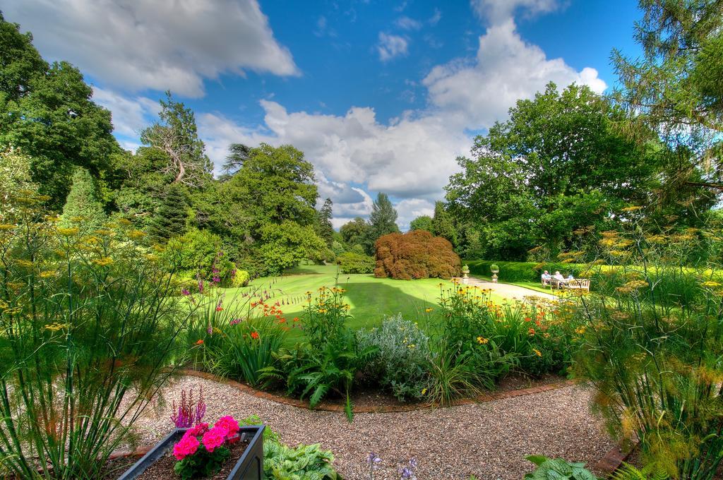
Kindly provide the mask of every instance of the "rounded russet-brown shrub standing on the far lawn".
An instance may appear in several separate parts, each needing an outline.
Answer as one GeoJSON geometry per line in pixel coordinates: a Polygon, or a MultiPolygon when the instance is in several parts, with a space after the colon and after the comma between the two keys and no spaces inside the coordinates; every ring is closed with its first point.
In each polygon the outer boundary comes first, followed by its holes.
{"type": "Polygon", "coordinates": [[[461,261],[452,244],[423,230],[390,233],[375,243],[375,276],[403,280],[452,278],[459,275],[461,261]]]}

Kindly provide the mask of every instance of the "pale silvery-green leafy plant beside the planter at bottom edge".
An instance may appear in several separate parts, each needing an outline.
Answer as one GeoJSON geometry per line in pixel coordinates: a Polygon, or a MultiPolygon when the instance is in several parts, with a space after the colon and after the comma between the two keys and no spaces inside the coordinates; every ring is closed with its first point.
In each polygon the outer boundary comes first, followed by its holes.
{"type": "Polygon", "coordinates": [[[334,456],[321,445],[290,448],[278,441],[264,442],[264,477],[274,480],[338,480],[334,456]]]}

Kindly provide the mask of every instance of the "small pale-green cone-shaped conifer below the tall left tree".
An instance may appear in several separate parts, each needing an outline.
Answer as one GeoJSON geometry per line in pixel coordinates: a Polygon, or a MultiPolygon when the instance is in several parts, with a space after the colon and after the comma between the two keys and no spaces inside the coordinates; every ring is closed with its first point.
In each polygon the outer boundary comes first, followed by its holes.
{"type": "Polygon", "coordinates": [[[82,223],[91,230],[103,226],[106,213],[103,203],[98,200],[98,189],[93,176],[85,168],[77,167],[73,173],[73,183],[63,207],[61,225],[71,226],[82,223]]]}

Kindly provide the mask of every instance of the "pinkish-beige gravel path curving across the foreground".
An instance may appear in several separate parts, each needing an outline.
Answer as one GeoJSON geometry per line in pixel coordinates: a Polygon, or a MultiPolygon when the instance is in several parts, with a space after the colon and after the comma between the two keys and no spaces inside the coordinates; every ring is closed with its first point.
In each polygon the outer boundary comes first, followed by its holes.
{"type": "Polygon", "coordinates": [[[375,479],[398,479],[398,466],[419,461],[417,478],[521,479],[531,463],[525,455],[544,454],[594,465],[613,443],[589,413],[590,394],[563,387],[487,403],[400,413],[357,413],[349,424],[343,413],[309,411],[257,398],[236,388],[197,377],[180,377],[166,389],[166,403],[138,422],[142,443],[168,433],[171,398],[181,388],[203,387],[206,420],[234,415],[260,416],[288,445],[320,442],[332,450],[345,479],[368,479],[370,452],[382,458],[375,479]]]}

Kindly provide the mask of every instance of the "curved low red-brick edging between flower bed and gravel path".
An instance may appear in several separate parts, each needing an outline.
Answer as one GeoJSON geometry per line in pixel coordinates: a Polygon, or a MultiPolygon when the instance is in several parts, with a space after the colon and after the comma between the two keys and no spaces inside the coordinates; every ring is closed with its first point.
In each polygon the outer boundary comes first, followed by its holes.
{"type": "MultiPolygon", "coordinates": [[[[297,408],[306,408],[307,410],[318,410],[318,411],[344,411],[344,406],[335,405],[333,403],[322,402],[319,403],[315,408],[311,408],[308,402],[304,400],[297,400],[296,398],[283,397],[281,395],[275,395],[273,393],[262,392],[256,390],[254,387],[249,387],[235,380],[228,380],[225,378],[217,377],[214,374],[208,372],[199,372],[198,370],[184,369],[179,372],[180,374],[189,375],[191,377],[204,378],[206,380],[213,380],[214,382],[223,383],[230,387],[235,387],[241,392],[253,395],[256,398],[263,398],[265,400],[271,400],[276,403],[283,405],[294,406],[297,408]]],[[[532,395],[534,393],[549,392],[557,390],[558,388],[568,387],[574,385],[573,380],[564,380],[562,382],[549,383],[547,385],[540,385],[539,387],[521,388],[519,390],[510,390],[508,392],[491,392],[479,395],[477,398],[464,398],[463,400],[457,400],[450,406],[462,406],[471,405],[474,403],[485,403],[494,400],[502,400],[505,398],[521,397],[523,395],[532,395]]],[[[393,413],[393,412],[405,412],[405,411],[416,411],[426,410],[429,408],[439,408],[433,406],[430,403],[416,403],[414,405],[380,405],[380,406],[369,406],[369,407],[354,407],[354,413],[393,413]]]]}

